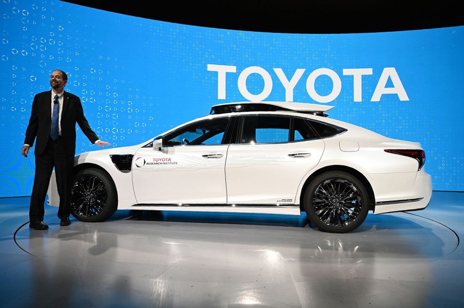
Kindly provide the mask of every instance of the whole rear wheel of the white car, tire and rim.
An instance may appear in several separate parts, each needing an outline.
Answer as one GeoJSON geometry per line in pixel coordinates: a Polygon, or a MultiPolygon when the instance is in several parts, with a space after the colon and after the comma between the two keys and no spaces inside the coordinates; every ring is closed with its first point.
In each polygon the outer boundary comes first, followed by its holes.
{"type": "Polygon", "coordinates": [[[347,233],[358,228],[369,212],[369,197],[363,183],[343,171],[328,171],[315,177],[305,191],[308,219],[323,232],[347,233]]]}

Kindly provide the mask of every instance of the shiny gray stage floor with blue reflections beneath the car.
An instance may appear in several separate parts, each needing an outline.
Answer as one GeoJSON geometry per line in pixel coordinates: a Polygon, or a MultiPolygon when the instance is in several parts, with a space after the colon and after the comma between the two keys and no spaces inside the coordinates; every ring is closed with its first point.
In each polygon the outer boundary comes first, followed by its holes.
{"type": "Polygon", "coordinates": [[[28,227],[0,199],[2,307],[463,307],[464,193],[327,234],[305,215],[117,211],[28,227]]]}

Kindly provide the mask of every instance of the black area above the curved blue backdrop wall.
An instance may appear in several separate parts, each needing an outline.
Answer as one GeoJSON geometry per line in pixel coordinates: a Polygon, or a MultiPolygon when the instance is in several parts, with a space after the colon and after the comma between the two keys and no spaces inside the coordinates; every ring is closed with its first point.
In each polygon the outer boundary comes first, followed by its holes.
{"type": "Polygon", "coordinates": [[[65,1],[191,26],[274,33],[368,33],[464,25],[459,1],[65,1]]]}

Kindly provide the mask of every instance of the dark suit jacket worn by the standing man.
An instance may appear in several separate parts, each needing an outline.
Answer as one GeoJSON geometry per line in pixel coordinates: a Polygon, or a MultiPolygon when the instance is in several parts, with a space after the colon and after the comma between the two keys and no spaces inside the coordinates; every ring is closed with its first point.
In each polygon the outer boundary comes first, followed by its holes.
{"type": "MultiPolygon", "coordinates": [[[[76,123],[92,143],[98,140],[97,135],[88,125],[84,116],[81,100],[76,95],[63,93],[63,110],[61,111],[61,138],[66,155],[76,153],[76,123]]],[[[51,90],[35,94],[32,102],[31,117],[26,129],[25,144],[32,146],[34,139],[35,155],[45,150],[51,129],[51,90]]]]}

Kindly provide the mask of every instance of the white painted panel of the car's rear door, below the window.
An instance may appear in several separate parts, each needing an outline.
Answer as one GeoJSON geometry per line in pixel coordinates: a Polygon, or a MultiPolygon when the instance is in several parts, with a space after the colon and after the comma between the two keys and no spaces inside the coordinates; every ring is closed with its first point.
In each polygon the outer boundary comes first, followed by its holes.
{"type": "Polygon", "coordinates": [[[320,139],[230,145],[226,163],[227,203],[299,204],[295,196],[301,179],[317,165],[323,151],[324,141],[320,139]]]}

